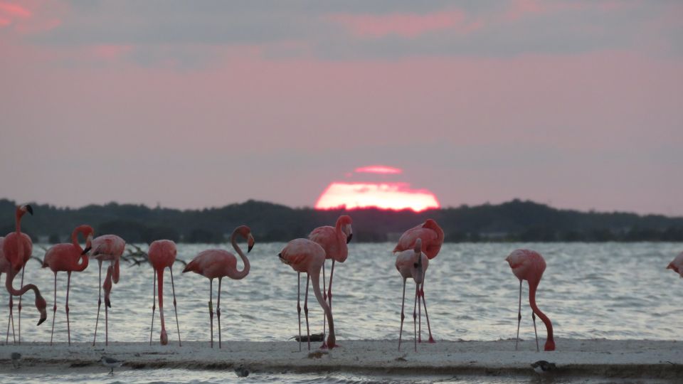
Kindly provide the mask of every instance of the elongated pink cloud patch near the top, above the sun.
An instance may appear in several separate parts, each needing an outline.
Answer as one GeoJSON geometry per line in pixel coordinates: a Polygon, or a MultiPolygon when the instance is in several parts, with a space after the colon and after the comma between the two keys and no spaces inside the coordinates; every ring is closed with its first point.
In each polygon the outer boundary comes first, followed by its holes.
{"type": "Polygon", "coordinates": [[[388,35],[414,38],[433,31],[455,29],[468,32],[479,28],[478,23],[467,23],[465,13],[459,10],[379,16],[337,14],[332,16],[332,20],[341,23],[356,36],[374,38],[388,35]]]}

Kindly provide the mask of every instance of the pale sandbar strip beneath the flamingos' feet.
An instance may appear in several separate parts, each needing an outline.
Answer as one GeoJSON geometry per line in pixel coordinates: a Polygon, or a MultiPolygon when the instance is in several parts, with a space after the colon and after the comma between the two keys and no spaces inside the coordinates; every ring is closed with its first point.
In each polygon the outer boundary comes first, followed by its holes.
{"type": "MultiPolygon", "coordinates": [[[[122,369],[190,368],[227,369],[243,363],[262,371],[357,371],[384,373],[445,373],[472,375],[534,374],[529,363],[537,360],[557,364],[556,375],[587,375],[605,378],[683,378],[683,342],[647,340],[557,339],[558,351],[536,352],[536,343],[523,341],[519,351],[514,340],[438,341],[418,345],[413,351],[408,340],[397,351],[398,341],[342,340],[332,351],[305,343],[302,351],[295,341],[224,341],[223,348],[211,349],[208,342],[189,341],[160,346],[155,343],[98,344],[45,343],[0,346],[0,373],[12,368],[12,352],[22,354],[24,370],[42,372],[70,368],[97,368],[102,354],[125,361],[122,369]]],[[[543,343],[541,343],[541,348],[543,343]]]]}

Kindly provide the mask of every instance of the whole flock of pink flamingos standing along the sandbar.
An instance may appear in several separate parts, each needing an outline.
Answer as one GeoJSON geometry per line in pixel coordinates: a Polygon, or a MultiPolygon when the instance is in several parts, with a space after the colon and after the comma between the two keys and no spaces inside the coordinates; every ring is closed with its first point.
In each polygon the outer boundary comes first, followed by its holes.
{"type": "MultiPolygon", "coordinates": [[[[13,297],[19,297],[18,302],[18,342],[21,343],[21,297],[29,290],[33,291],[36,297],[36,309],[41,314],[38,320],[38,325],[47,319],[46,300],[41,295],[40,290],[35,284],[23,284],[23,271],[26,263],[31,258],[33,244],[28,235],[21,233],[21,218],[24,214],[30,213],[33,215],[33,208],[29,205],[18,206],[15,213],[16,230],[9,233],[6,237],[0,237],[0,274],[6,274],[5,287],[9,292],[9,319],[7,324],[7,341],[9,341],[10,323],[14,335],[14,303],[13,297]],[[21,287],[14,289],[14,278],[21,271],[21,287]]],[[[80,225],[71,235],[71,243],[57,244],[51,247],[45,254],[43,259],[43,268],[49,267],[55,274],[55,296],[52,311],[52,331],[50,343],[53,342],[55,315],[57,311],[57,272],[67,273],[67,289],[66,289],[66,320],[68,342],[71,343],[71,331],[69,326],[69,289],[71,283],[71,272],[80,272],[88,267],[88,257],[95,257],[100,268],[100,283],[99,283],[99,299],[97,301],[97,320],[95,321],[95,335],[92,339],[92,345],[95,345],[97,340],[97,324],[100,320],[100,306],[102,305],[102,289],[105,291],[105,345],[109,342],[108,336],[108,311],[111,307],[110,293],[112,290],[112,283],[116,284],[119,281],[119,260],[125,250],[125,241],[117,235],[102,235],[93,238],[94,231],[89,225],[80,225]],[[85,248],[81,247],[78,242],[78,235],[85,238],[85,248]],[[105,282],[102,283],[102,262],[110,262],[105,275],[105,282]]],[[[306,289],[304,299],[304,314],[306,321],[306,332],[308,341],[308,348],[310,349],[310,331],[308,320],[308,288],[309,283],[312,282],[313,293],[317,302],[324,311],[323,334],[325,334],[325,324],[329,326],[329,334],[327,340],[323,336],[323,343],[321,348],[334,348],[337,346],[337,340],[334,336],[334,319],[332,317],[332,277],[334,274],[334,263],[344,262],[348,256],[347,243],[352,238],[351,218],[348,215],[342,215],[337,219],[334,227],[324,226],[315,228],[309,234],[308,238],[295,239],[287,243],[282,248],[278,257],[280,260],[292,267],[297,272],[297,280],[299,281],[297,294],[297,313],[299,318],[299,348],[301,350],[301,343],[304,338],[301,336],[301,283],[300,275],[305,273],[306,289]],[[325,260],[332,260],[332,268],[329,272],[329,285],[327,285],[327,292],[325,292],[325,260]],[[323,275],[323,290],[320,290],[320,272],[323,275]]],[[[231,279],[243,279],[249,274],[250,264],[248,258],[241,250],[237,243],[237,237],[240,236],[247,241],[247,252],[254,246],[254,238],[251,230],[246,225],[240,225],[235,228],[231,235],[231,243],[235,252],[238,253],[242,262],[242,270],[237,268],[237,258],[231,252],[220,249],[204,250],[199,252],[194,259],[189,262],[183,273],[195,272],[201,274],[203,277],[209,279],[209,321],[211,324],[211,348],[213,348],[213,279],[218,279],[218,300],[216,302],[216,321],[218,322],[218,348],[221,348],[221,280],[223,277],[231,279]]],[[[403,298],[401,299],[401,326],[398,336],[398,349],[401,349],[401,338],[403,335],[403,320],[405,319],[404,304],[406,301],[406,281],[409,278],[415,282],[415,295],[413,299],[413,341],[415,351],[417,351],[417,343],[420,343],[422,334],[422,309],[425,311],[425,318],[427,320],[427,328],[429,333],[429,343],[434,343],[431,326],[429,323],[429,315],[427,313],[427,302],[425,301],[425,272],[427,271],[429,261],[433,260],[439,253],[441,245],[443,244],[443,230],[435,222],[435,220],[427,219],[424,223],[406,230],[401,238],[398,239],[398,244],[393,249],[396,256],[396,270],[403,278],[403,298]]],[[[169,342],[166,334],[166,327],[164,324],[164,270],[166,267],[171,272],[171,290],[173,292],[173,305],[176,314],[176,328],[178,331],[178,343],[181,345],[180,326],[178,323],[178,311],[176,306],[175,287],[173,282],[172,265],[176,260],[176,245],[171,240],[156,240],[149,245],[149,263],[154,268],[154,282],[152,284],[152,325],[149,331],[149,343],[152,344],[152,332],[154,328],[154,313],[156,311],[156,302],[158,294],[159,302],[159,318],[161,321],[161,335],[160,341],[162,345],[169,342]]],[[[555,342],[553,338],[553,325],[538,306],[536,306],[536,288],[541,281],[543,272],[546,269],[546,262],[538,252],[532,250],[515,250],[505,259],[510,267],[512,273],[519,279],[519,312],[517,316],[517,342],[519,342],[519,324],[521,323],[521,286],[522,282],[526,280],[529,283],[529,306],[531,306],[531,317],[534,321],[534,333],[536,333],[536,350],[539,350],[538,333],[536,332],[536,316],[539,316],[544,322],[547,331],[545,351],[554,351],[555,342]]],[[[683,278],[683,252],[678,255],[672,262],[669,263],[667,269],[674,270],[683,278]]],[[[16,337],[14,338],[16,343],[16,337]]],[[[515,345],[517,348],[517,343],[515,345]]]]}

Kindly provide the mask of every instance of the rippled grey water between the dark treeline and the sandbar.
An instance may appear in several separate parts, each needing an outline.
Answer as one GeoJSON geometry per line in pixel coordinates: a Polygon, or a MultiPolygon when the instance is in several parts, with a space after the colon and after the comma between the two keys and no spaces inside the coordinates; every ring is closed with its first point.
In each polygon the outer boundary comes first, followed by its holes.
{"type": "MultiPolygon", "coordinates": [[[[257,239],[258,241],[258,239],[257,239]]],[[[230,247],[230,245],[221,245],[230,247]]],[[[245,279],[223,279],[223,341],[277,341],[297,334],[297,274],[277,258],[282,243],[257,243],[248,254],[245,279]]],[[[212,245],[179,245],[178,259],[189,261],[212,245]]],[[[445,244],[430,261],[425,280],[431,326],[436,339],[497,340],[517,329],[519,281],[504,258],[528,247],[544,255],[548,267],[536,296],[553,321],[557,336],[567,338],[650,338],[680,336],[683,279],[665,270],[682,243],[445,244]]],[[[333,309],[337,339],[398,338],[402,280],[394,267],[392,244],[349,244],[349,258],[334,269],[333,309]]],[[[143,248],[145,249],[145,248],[143,248]]],[[[42,259],[35,245],[33,255],[42,259]]],[[[105,264],[106,266],[106,264],[105,264]]],[[[208,279],[182,274],[176,262],[174,282],[181,337],[208,340],[208,279]]],[[[329,262],[328,262],[329,274],[329,262]]],[[[149,341],[152,316],[152,267],[122,262],[121,279],[112,289],[110,341],[149,341]]],[[[92,341],[97,314],[97,262],[75,272],[69,297],[72,341],[92,341]]],[[[36,327],[33,294],[23,301],[22,338],[48,341],[52,321],[53,274],[28,262],[26,282],[37,284],[48,300],[48,320],[36,327]]],[[[218,284],[213,284],[214,291],[218,284]]],[[[18,282],[15,282],[18,287],[18,282]]],[[[164,315],[169,340],[177,340],[171,279],[164,279],[164,315]]],[[[302,288],[305,279],[302,278],[302,288]]],[[[408,283],[406,307],[412,311],[414,285],[408,283]]],[[[58,274],[55,341],[66,341],[66,274],[58,274]]],[[[4,290],[3,290],[4,292],[4,290]]],[[[533,338],[531,310],[522,299],[521,337],[533,338]]],[[[6,294],[0,300],[6,302],[6,294]]],[[[214,301],[216,293],[213,294],[214,301]]],[[[303,297],[302,297],[303,300],[303,297]]],[[[312,332],[322,331],[322,309],[309,295],[312,332]]],[[[214,302],[215,305],[215,302],[214,302]]],[[[0,306],[5,321],[7,307],[0,306]]],[[[102,318],[104,306],[102,306],[102,318]]],[[[16,317],[16,316],[15,316],[16,317]]],[[[102,320],[100,319],[100,321],[102,320]]],[[[407,318],[408,319],[408,318],[407,318]]],[[[159,316],[154,341],[159,339],[159,316]]],[[[100,325],[103,324],[100,322],[100,325]]],[[[214,326],[216,326],[214,324],[214,326]]],[[[103,332],[104,328],[100,328],[103,332]]],[[[541,326],[541,332],[544,333],[541,326]]],[[[103,333],[98,332],[98,339],[103,333]]],[[[10,336],[11,337],[11,336],[10,336]]],[[[103,339],[102,339],[103,340],[103,339]]]]}

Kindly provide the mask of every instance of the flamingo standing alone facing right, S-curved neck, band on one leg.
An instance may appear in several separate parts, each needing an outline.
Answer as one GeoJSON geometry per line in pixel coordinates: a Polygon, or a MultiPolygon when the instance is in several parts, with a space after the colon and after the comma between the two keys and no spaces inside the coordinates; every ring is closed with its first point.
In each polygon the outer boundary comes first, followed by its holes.
{"type": "Polygon", "coordinates": [[[251,235],[251,230],[246,225],[240,225],[233,230],[233,235],[230,240],[233,248],[242,258],[244,267],[241,271],[237,270],[237,258],[231,252],[226,250],[205,250],[199,252],[188,265],[186,265],[183,273],[195,272],[208,278],[208,316],[211,322],[211,348],[213,348],[213,279],[218,277],[218,302],[216,302],[216,316],[218,317],[218,348],[221,348],[221,280],[223,277],[230,277],[231,279],[239,280],[245,278],[249,274],[249,260],[244,255],[239,245],[237,245],[237,235],[242,236],[247,240],[247,253],[254,247],[254,237],[251,235]]]}

